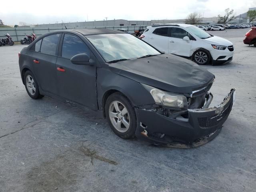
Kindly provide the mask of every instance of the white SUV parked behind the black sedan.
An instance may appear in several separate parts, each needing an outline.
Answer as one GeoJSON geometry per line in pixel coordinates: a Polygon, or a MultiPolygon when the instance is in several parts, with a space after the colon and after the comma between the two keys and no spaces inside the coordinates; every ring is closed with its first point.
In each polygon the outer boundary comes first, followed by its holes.
{"type": "Polygon", "coordinates": [[[232,42],[188,24],[148,26],[140,38],[166,54],[194,60],[197,64],[223,64],[234,54],[232,42]]]}

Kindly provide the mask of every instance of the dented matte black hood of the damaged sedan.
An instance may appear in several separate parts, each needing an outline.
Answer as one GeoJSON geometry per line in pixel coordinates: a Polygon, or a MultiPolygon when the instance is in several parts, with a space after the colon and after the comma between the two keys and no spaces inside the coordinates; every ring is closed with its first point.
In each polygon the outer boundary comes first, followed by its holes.
{"type": "Polygon", "coordinates": [[[175,93],[191,93],[214,80],[214,75],[203,67],[175,55],[120,61],[109,67],[112,72],[136,82],[175,93]]]}

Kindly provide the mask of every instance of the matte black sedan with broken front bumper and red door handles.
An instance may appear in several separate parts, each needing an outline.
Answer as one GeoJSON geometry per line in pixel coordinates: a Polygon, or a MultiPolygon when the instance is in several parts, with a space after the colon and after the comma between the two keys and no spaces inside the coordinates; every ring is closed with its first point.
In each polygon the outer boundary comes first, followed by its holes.
{"type": "Polygon", "coordinates": [[[220,105],[209,108],[212,73],[108,29],[44,34],[22,49],[19,66],[31,98],[47,95],[99,110],[125,139],[135,135],[168,145],[204,144],[220,132],[234,100],[231,89],[220,105]]]}

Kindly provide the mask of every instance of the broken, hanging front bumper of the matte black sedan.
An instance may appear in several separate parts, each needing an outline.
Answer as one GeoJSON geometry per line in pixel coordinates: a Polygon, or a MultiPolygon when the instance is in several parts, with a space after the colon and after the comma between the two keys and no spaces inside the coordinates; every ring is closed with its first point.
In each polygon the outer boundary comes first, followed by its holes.
{"type": "MultiPolygon", "coordinates": [[[[201,109],[187,109],[183,116],[165,116],[154,108],[136,108],[137,137],[144,137],[160,146],[191,148],[205,144],[215,138],[228,118],[233,106],[235,89],[231,89],[221,104],[208,108],[212,94],[201,109]]],[[[184,112],[184,111],[183,111],[184,112]]]]}

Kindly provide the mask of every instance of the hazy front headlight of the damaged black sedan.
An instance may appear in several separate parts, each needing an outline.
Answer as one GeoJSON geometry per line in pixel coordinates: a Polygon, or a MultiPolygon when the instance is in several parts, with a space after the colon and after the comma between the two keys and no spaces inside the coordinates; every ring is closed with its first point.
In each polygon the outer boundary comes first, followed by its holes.
{"type": "Polygon", "coordinates": [[[150,92],[156,104],[174,108],[188,108],[188,101],[185,96],[162,91],[146,84],[142,85],[150,92]]]}

